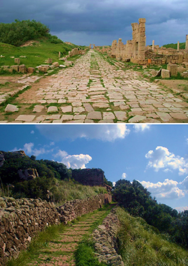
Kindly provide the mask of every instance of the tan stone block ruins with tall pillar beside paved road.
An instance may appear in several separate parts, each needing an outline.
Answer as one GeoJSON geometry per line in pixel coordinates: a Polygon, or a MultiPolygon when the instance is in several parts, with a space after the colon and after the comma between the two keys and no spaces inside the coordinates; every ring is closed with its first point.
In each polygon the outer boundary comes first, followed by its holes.
{"type": "Polygon", "coordinates": [[[139,19],[138,23],[132,23],[132,40],[128,40],[123,44],[122,39],[118,42],[112,42],[111,49],[98,49],[102,53],[108,53],[111,58],[116,58],[120,61],[131,61],[139,63],[140,65],[147,65],[148,58],[152,59],[151,63],[161,65],[166,63],[182,64],[188,62],[188,35],[186,35],[185,49],[179,49],[179,42],[177,49],[159,47],[153,41],[152,46],[146,46],[145,36],[145,22],[146,19],[139,19]]]}

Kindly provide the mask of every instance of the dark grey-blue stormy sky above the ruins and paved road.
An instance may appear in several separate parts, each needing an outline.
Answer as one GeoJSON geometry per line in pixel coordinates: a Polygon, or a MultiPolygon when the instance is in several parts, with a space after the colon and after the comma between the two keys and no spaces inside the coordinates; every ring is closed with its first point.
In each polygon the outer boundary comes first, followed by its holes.
{"type": "Polygon", "coordinates": [[[146,18],[147,45],[185,42],[187,0],[1,0],[0,22],[35,19],[51,34],[78,45],[132,39],[131,23],[146,18]]]}

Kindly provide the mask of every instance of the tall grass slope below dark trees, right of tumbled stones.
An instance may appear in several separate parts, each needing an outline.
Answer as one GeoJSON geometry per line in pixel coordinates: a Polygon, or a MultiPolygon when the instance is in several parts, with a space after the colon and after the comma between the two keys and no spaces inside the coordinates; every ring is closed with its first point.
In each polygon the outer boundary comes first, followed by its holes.
{"type": "Polygon", "coordinates": [[[121,208],[117,209],[117,215],[121,223],[119,252],[125,266],[188,265],[188,251],[166,240],[155,227],[121,208]]]}

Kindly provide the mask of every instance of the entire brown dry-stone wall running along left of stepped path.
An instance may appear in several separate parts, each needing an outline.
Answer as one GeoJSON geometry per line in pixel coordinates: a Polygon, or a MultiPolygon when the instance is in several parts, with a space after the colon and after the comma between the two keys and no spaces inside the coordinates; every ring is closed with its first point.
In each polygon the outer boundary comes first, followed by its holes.
{"type": "Polygon", "coordinates": [[[111,200],[110,194],[99,194],[88,199],[72,200],[55,208],[46,200],[0,197],[0,266],[17,257],[46,226],[58,225],[60,220],[67,223],[111,200]]]}

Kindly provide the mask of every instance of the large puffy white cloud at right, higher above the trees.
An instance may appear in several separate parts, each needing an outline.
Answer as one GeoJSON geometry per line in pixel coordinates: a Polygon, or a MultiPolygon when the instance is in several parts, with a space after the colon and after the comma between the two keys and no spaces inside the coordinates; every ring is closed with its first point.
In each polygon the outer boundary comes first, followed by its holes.
{"type": "Polygon", "coordinates": [[[150,150],[145,157],[149,159],[147,168],[154,168],[155,171],[165,168],[165,171],[178,169],[179,175],[188,173],[188,161],[170,153],[165,147],[157,146],[154,151],[150,150]]]}

